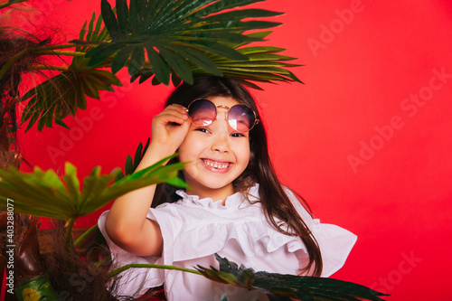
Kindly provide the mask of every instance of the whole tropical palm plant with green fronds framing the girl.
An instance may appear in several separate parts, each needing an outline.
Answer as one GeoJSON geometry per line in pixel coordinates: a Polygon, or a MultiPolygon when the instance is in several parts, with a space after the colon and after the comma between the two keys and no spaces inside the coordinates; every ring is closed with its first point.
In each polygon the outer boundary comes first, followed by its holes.
{"type": "MultiPolygon", "coordinates": [[[[59,125],[67,127],[63,119],[75,116],[79,109],[87,108],[87,97],[99,99],[99,91],[114,90],[121,82],[116,73],[127,68],[131,80],[142,83],[151,80],[153,85],[182,80],[193,82],[196,74],[230,75],[245,85],[260,89],[255,83],[273,81],[297,81],[288,67],[297,66],[287,61],[295,58],[280,54],[278,47],[250,46],[261,42],[268,35],[268,28],[279,23],[256,20],[276,16],[280,13],[263,9],[241,8],[262,0],[117,0],[112,8],[107,0],[101,0],[101,15],[92,14],[80,30],[79,39],[63,44],[51,44],[52,39],[39,39],[31,33],[11,28],[0,28],[0,98],[2,99],[0,119],[0,155],[14,162],[7,171],[0,170],[0,209],[7,208],[6,200],[14,200],[14,212],[23,215],[50,217],[66,221],[65,252],[73,254],[71,230],[80,216],[99,210],[118,196],[152,183],[172,183],[184,186],[175,176],[184,164],[164,165],[165,159],[137,173],[137,168],[146,146],[140,144],[134,160],[127,157],[125,174],[114,170],[111,174],[100,174],[95,167],[83,184],[77,177],[77,169],[70,163],[65,165],[61,177],[52,170],[42,171],[35,167],[32,173],[18,171],[21,162],[14,136],[19,128],[16,120],[16,106],[25,102],[21,122],[28,125],[25,131],[36,126],[59,125]],[[245,21],[247,20],[247,21],[245,21]],[[247,33],[253,31],[253,33],[247,33]],[[55,66],[46,63],[48,56],[70,57],[71,63],[55,66]],[[23,95],[19,86],[24,73],[33,72],[42,80],[23,95]],[[15,146],[15,150],[10,148],[15,146]],[[116,178],[116,182],[112,183],[116,178]]],[[[0,4],[0,9],[9,9],[26,0],[9,0],[0,4]]],[[[167,158],[166,158],[167,159],[167,158]]],[[[2,215],[5,217],[5,215],[2,215]]],[[[27,244],[20,253],[30,254],[36,264],[34,277],[45,268],[42,266],[39,249],[33,229],[33,220],[25,234],[27,244]],[[27,245],[33,241],[33,249],[27,252],[27,245]]],[[[5,229],[2,221],[1,229],[5,229]]],[[[95,230],[92,227],[89,232],[95,230]]],[[[2,258],[0,258],[2,259],[2,258]]],[[[5,259],[5,254],[3,259],[5,259]]],[[[65,264],[65,257],[62,257],[65,264]]],[[[227,259],[217,258],[220,270],[198,267],[185,269],[204,275],[214,281],[232,285],[261,289],[271,300],[355,300],[356,297],[380,300],[378,293],[361,286],[332,282],[326,279],[285,277],[278,274],[259,274],[237,265],[227,259]],[[273,285],[278,280],[278,287],[273,285]],[[328,288],[330,291],[328,291],[328,288]],[[321,292],[319,292],[321,291],[321,292]]],[[[26,263],[28,259],[17,259],[26,263]]],[[[79,259],[78,259],[79,260],[79,259]]],[[[2,261],[2,260],[0,260],[2,261]]],[[[5,262],[5,260],[3,260],[5,262]]],[[[77,268],[73,262],[67,266],[77,268]]],[[[112,271],[114,278],[127,266],[112,271]]],[[[146,268],[173,268],[146,265],[146,268]]],[[[54,270],[56,273],[56,271],[54,270]]],[[[49,283],[49,280],[38,279],[49,283]]],[[[335,280],[337,281],[337,280],[335,280]]],[[[41,283],[41,282],[40,282],[41,283]]],[[[103,293],[102,293],[103,294],[103,293]]],[[[223,296],[226,300],[227,296],[223,296]]]]}

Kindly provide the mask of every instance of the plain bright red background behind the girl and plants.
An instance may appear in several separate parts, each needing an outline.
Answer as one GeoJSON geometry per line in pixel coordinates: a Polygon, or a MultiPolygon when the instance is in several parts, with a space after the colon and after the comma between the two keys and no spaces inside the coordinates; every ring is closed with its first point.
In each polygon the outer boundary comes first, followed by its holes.
{"type": "MultiPolygon", "coordinates": [[[[99,12],[99,1],[32,3],[43,8],[35,23],[60,27],[68,40],[99,12]]],[[[284,24],[267,44],[287,48],[305,65],[293,70],[305,85],[254,91],[278,174],[321,221],[359,237],[334,277],[391,294],[388,300],[449,299],[452,5],[268,0],[255,6],[287,13],[275,18],[284,24]],[[436,71],[451,75],[439,78],[436,71]],[[419,104],[410,100],[416,96],[419,104]]],[[[28,162],[61,169],[70,161],[80,178],[95,165],[104,173],[122,167],[150,136],[151,119],[171,89],[127,84],[122,71],[118,77],[123,88],[90,99],[80,111],[92,126],[66,118],[71,131],[21,134],[28,162]],[[51,155],[52,149],[61,152],[51,155]]],[[[77,226],[93,225],[99,213],[77,226]]]]}

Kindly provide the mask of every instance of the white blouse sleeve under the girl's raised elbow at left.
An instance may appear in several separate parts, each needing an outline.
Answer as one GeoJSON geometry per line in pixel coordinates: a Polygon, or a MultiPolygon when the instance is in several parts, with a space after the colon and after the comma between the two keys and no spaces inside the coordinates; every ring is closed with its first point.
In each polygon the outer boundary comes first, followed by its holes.
{"type": "MultiPolygon", "coordinates": [[[[105,220],[107,218],[108,211],[103,212],[99,217],[99,230],[107,240],[108,247],[111,253],[111,259],[113,260],[113,266],[111,269],[121,268],[127,264],[139,263],[139,264],[163,264],[163,259],[160,257],[144,257],[137,256],[127,252],[125,249],[121,249],[108,237],[108,233],[105,230],[105,220]]],[[[133,233],[130,233],[133,235],[133,233]]],[[[150,287],[159,287],[164,283],[165,272],[160,268],[129,268],[126,271],[119,274],[116,279],[112,294],[114,296],[141,296],[146,293],[150,287]]]]}

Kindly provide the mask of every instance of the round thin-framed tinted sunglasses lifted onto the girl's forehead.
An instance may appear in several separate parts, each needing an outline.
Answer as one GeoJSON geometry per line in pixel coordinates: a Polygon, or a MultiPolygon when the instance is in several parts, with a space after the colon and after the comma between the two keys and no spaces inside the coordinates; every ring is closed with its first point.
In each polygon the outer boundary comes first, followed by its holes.
{"type": "Polygon", "coordinates": [[[239,132],[248,132],[259,123],[256,113],[246,105],[235,105],[231,108],[215,106],[209,99],[194,99],[185,109],[193,124],[209,126],[217,118],[217,108],[228,110],[227,120],[230,126],[239,132]]]}

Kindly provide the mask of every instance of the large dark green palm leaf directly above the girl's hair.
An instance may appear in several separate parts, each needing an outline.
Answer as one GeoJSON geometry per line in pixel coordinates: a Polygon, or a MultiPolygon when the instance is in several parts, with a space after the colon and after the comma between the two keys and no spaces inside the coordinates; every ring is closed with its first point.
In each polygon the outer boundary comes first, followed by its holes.
{"type": "Polygon", "coordinates": [[[242,34],[247,30],[274,27],[278,23],[243,19],[278,15],[262,9],[226,9],[250,5],[261,0],[117,0],[115,14],[107,0],[101,1],[102,16],[111,42],[87,52],[89,66],[114,57],[112,71],[127,65],[130,75],[145,66],[148,79],[169,84],[170,75],[193,82],[193,69],[221,75],[210,59],[213,54],[230,60],[246,61],[248,57],[229,44],[261,41],[262,38],[242,34]],[[127,60],[128,59],[128,60],[127,60]]]}

